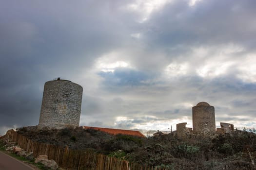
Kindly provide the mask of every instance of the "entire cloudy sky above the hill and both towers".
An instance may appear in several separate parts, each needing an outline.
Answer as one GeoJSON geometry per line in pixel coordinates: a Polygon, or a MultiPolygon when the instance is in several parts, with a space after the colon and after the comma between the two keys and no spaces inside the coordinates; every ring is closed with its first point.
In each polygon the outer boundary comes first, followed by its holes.
{"type": "Polygon", "coordinates": [[[0,0],[0,135],[37,125],[43,85],[83,86],[80,125],[256,127],[256,0],[0,0]]]}

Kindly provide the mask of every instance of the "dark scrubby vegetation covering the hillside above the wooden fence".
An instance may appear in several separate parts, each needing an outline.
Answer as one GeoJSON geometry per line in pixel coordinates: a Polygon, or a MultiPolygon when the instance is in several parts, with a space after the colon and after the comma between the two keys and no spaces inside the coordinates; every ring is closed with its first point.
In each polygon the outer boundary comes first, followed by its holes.
{"type": "Polygon", "coordinates": [[[93,150],[110,156],[165,168],[165,170],[255,170],[256,134],[238,131],[211,137],[167,136],[140,138],[112,136],[93,129],[61,130],[36,127],[20,128],[18,133],[28,138],[59,147],[93,150]]]}

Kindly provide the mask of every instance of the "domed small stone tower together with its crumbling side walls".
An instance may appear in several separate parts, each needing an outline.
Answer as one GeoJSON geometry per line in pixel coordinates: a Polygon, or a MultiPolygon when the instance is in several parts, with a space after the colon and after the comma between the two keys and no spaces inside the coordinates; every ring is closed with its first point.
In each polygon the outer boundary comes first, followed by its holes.
{"type": "Polygon", "coordinates": [[[187,135],[211,136],[214,134],[234,133],[234,125],[231,123],[220,123],[216,130],[215,109],[207,102],[199,102],[192,107],[193,128],[186,127],[186,122],[176,125],[176,134],[179,137],[187,135]]]}

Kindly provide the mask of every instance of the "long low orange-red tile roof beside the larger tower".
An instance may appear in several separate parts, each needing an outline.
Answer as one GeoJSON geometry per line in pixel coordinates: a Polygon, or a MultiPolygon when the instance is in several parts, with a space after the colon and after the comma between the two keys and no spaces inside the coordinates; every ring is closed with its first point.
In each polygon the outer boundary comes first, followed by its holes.
{"type": "Polygon", "coordinates": [[[123,129],[111,129],[111,128],[100,128],[100,127],[91,127],[91,126],[83,126],[84,129],[95,129],[101,132],[106,132],[111,135],[131,135],[131,136],[139,136],[139,137],[145,137],[141,132],[139,131],[133,131],[133,130],[123,130],[123,129]]]}

